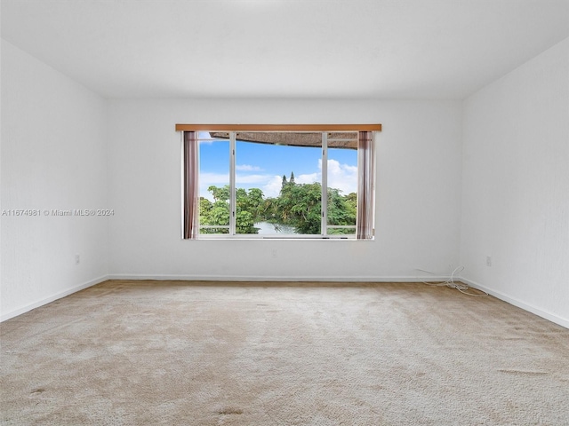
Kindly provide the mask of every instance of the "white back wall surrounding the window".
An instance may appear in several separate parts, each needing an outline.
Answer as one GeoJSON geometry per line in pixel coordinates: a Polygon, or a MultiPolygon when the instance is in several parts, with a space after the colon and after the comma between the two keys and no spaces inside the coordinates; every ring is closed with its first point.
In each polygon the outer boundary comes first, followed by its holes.
{"type": "Polygon", "coordinates": [[[115,277],[415,280],[459,257],[461,102],[109,101],[115,277]],[[178,122],[381,122],[375,241],[181,241],[178,122]],[[278,256],[271,256],[272,249],[278,256]]]}

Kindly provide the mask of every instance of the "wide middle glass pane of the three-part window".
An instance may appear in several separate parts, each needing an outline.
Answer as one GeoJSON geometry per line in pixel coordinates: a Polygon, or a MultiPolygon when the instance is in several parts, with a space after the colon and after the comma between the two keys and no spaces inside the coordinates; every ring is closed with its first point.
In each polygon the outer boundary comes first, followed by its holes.
{"type": "Polygon", "coordinates": [[[236,134],[236,233],[320,234],[322,134],[236,134]]]}

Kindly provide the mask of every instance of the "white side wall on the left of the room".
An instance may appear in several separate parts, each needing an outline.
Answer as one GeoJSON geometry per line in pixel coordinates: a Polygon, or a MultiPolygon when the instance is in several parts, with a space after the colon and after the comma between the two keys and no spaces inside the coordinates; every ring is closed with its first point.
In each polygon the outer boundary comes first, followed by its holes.
{"type": "Polygon", "coordinates": [[[106,139],[103,99],[2,41],[2,209],[41,212],[2,217],[2,319],[106,276],[108,219],[43,213],[107,207],[106,139]]]}

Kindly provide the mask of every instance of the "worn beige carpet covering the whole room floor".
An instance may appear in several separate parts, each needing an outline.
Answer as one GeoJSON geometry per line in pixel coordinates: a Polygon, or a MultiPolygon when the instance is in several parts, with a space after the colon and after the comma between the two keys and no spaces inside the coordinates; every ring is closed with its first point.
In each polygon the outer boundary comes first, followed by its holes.
{"type": "Polygon", "coordinates": [[[451,288],[107,281],[0,327],[3,425],[569,424],[569,330],[451,288]]]}

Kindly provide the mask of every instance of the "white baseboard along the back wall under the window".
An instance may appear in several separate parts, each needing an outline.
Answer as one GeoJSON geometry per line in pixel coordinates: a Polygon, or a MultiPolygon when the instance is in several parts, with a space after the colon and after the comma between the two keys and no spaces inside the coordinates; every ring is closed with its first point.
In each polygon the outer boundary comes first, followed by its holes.
{"type": "Polygon", "coordinates": [[[445,281],[448,277],[429,275],[418,276],[399,276],[399,277],[371,277],[371,276],[259,276],[259,275],[142,275],[132,273],[115,273],[108,275],[108,280],[184,280],[184,281],[293,281],[293,282],[421,282],[425,281],[445,281]]]}

